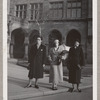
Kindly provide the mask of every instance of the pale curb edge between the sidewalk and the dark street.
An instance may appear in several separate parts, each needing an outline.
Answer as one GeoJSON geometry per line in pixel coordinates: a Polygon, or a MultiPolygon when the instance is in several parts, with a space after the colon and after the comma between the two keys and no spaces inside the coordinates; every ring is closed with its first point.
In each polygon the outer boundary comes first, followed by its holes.
{"type": "MultiPolygon", "coordinates": [[[[86,89],[86,88],[91,88],[92,85],[89,85],[89,86],[83,86],[83,87],[80,87],[80,89],[86,89]]],[[[54,95],[54,94],[59,94],[59,93],[64,93],[64,92],[67,92],[68,91],[68,88],[67,89],[59,89],[59,90],[56,90],[56,91],[40,91],[38,93],[23,93],[22,95],[16,95],[16,96],[9,96],[8,97],[8,100],[22,100],[22,99],[28,99],[28,98],[36,98],[36,97],[40,97],[40,96],[48,96],[48,95],[54,95]]]]}

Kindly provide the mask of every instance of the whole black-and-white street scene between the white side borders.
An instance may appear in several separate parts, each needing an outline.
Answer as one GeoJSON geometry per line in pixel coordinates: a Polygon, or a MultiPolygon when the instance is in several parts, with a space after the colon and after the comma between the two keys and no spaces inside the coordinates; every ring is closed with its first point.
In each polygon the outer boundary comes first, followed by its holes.
{"type": "Polygon", "coordinates": [[[7,0],[7,100],[93,100],[93,0],[7,0]]]}

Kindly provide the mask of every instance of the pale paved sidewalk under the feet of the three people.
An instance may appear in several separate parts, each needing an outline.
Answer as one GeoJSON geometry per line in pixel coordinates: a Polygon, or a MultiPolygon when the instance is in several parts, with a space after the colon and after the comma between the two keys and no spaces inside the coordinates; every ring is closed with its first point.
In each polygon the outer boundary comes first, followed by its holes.
{"type": "MultiPolygon", "coordinates": [[[[64,76],[64,82],[60,83],[58,90],[53,91],[49,84],[49,74],[44,74],[44,78],[39,80],[39,89],[24,88],[28,83],[28,70],[14,63],[8,63],[8,100],[24,100],[25,98],[52,95],[68,91],[71,84],[67,82],[67,76],[64,76]]],[[[81,89],[92,87],[92,76],[82,77],[81,89]]]]}

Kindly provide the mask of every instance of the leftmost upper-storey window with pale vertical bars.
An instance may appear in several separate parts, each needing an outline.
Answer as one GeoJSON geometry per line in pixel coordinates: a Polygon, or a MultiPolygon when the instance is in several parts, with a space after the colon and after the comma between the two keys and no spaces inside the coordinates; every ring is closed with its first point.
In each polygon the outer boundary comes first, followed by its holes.
{"type": "Polygon", "coordinates": [[[16,5],[16,17],[25,19],[26,13],[27,13],[27,5],[26,4],[16,5]]]}

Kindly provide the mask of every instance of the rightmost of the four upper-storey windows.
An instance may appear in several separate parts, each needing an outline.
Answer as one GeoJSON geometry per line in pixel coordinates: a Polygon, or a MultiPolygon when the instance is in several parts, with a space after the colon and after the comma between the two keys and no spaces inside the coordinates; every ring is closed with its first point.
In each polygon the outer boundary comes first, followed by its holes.
{"type": "Polygon", "coordinates": [[[81,0],[68,0],[67,18],[81,18],[81,0]]]}

